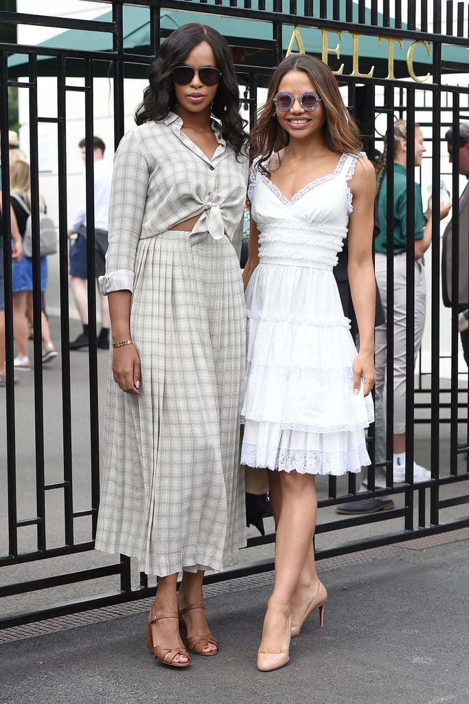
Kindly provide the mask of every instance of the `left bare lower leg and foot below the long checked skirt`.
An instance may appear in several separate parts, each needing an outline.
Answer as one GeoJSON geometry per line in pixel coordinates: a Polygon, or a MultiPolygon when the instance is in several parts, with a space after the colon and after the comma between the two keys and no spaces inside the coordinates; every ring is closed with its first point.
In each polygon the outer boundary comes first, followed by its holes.
{"type": "MultiPolygon", "coordinates": [[[[177,573],[168,577],[158,578],[158,589],[153,602],[153,615],[177,614],[177,573]]],[[[176,618],[162,618],[151,625],[153,643],[165,648],[176,648],[181,642],[179,634],[179,620],[176,618]]],[[[188,662],[186,655],[174,655],[174,662],[188,662]]]]}

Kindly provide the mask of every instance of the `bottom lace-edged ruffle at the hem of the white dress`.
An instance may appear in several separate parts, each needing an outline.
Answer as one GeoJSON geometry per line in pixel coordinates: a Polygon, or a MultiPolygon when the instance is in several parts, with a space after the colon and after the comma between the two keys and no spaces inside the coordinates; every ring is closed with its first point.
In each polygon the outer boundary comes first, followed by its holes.
{"type": "Polygon", "coordinates": [[[371,460],[364,442],[352,450],[337,452],[261,447],[243,442],[241,464],[248,467],[266,467],[268,470],[280,472],[339,476],[346,472],[359,472],[361,467],[371,465],[371,460]]]}

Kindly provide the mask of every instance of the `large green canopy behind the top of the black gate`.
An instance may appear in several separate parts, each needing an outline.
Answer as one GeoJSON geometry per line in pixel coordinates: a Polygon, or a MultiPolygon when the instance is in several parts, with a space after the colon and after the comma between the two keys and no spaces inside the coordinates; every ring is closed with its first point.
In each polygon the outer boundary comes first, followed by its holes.
{"type": "MultiPolygon", "coordinates": [[[[273,0],[267,0],[267,10],[272,9],[273,0]]],[[[229,0],[222,0],[222,5],[229,6],[229,0]]],[[[257,0],[252,0],[252,8],[257,9],[257,0]]],[[[162,10],[160,13],[160,26],[162,32],[167,35],[171,30],[176,29],[186,23],[200,22],[217,29],[226,37],[230,46],[233,47],[236,63],[247,63],[260,67],[271,68],[274,62],[272,46],[272,25],[270,21],[252,20],[250,18],[241,19],[224,15],[211,14],[210,4],[203,5],[203,12],[182,11],[182,10],[162,10]],[[238,48],[236,51],[235,48],[238,48]]],[[[319,10],[319,0],[314,2],[314,11],[319,10]],[[318,6],[316,8],[316,5],[318,6]]],[[[289,13],[290,1],[283,0],[283,11],[289,13]]],[[[358,23],[359,7],[357,3],[352,6],[352,20],[358,23]]],[[[249,11],[246,11],[247,17],[249,11]]],[[[131,54],[151,56],[150,49],[150,14],[148,8],[124,6],[124,51],[131,54]]],[[[319,13],[318,13],[319,14],[319,13]]],[[[333,0],[328,0],[328,18],[333,17],[333,0]]],[[[340,3],[340,19],[345,18],[345,0],[340,3]]],[[[96,18],[100,22],[112,22],[111,12],[104,13],[96,18]]],[[[302,18],[297,17],[297,25],[300,27],[300,39],[307,54],[312,54],[321,58],[323,48],[323,35],[318,28],[302,27],[302,18]]],[[[365,23],[371,25],[371,10],[365,10],[365,23]]],[[[321,24],[321,20],[318,20],[321,24]]],[[[93,20],[89,22],[90,27],[93,20]]],[[[378,13],[378,25],[383,25],[383,15],[378,13]]],[[[394,26],[394,20],[390,20],[390,25],[394,26]]],[[[403,25],[403,30],[406,29],[403,25]]],[[[385,35],[385,28],[379,30],[381,35],[385,35]]],[[[287,51],[292,39],[293,25],[283,25],[282,48],[287,51]]],[[[389,46],[390,42],[384,40],[379,44],[378,37],[371,37],[365,34],[355,38],[356,46],[354,51],[354,38],[347,31],[342,32],[342,37],[337,32],[330,30],[326,39],[328,46],[328,64],[333,70],[339,70],[343,64],[343,75],[354,75],[357,73],[367,74],[371,68],[374,69],[374,76],[385,78],[389,68],[389,46]],[[333,53],[336,46],[339,46],[339,54],[333,53]],[[355,66],[353,63],[355,54],[355,66]]],[[[393,73],[394,77],[409,77],[409,68],[406,63],[409,48],[413,42],[404,40],[400,47],[397,42],[392,42],[394,49],[393,73]]],[[[93,54],[99,51],[111,52],[113,46],[112,34],[108,32],[96,32],[93,30],[68,30],[57,34],[38,46],[49,49],[69,49],[77,51],[90,51],[93,54]]],[[[297,42],[294,42],[293,51],[298,51],[297,42]]],[[[95,58],[95,57],[93,57],[95,58]]],[[[469,49],[466,47],[451,46],[449,44],[442,47],[442,70],[444,73],[467,73],[469,65],[469,49]]],[[[125,75],[129,77],[146,77],[148,75],[148,62],[127,63],[125,75]]],[[[8,58],[8,68],[11,76],[27,74],[27,55],[15,54],[8,58]]],[[[430,46],[430,56],[423,44],[417,44],[413,50],[412,70],[417,77],[425,77],[432,72],[432,48],[430,46]]],[[[51,56],[39,56],[39,75],[56,75],[56,58],[51,56]]],[[[83,61],[77,58],[67,59],[68,75],[83,75],[83,61]]],[[[94,68],[94,75],[109,75],[112,73],[109,61],[98,62],[94,68]]]]}

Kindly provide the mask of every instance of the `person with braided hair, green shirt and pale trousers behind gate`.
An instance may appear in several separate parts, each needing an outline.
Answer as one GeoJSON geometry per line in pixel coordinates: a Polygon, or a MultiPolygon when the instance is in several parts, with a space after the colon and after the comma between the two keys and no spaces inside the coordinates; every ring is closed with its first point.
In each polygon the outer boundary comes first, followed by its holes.
{"type": "MultiPolygon", "coordinates": [[[[425,144],[423,132],[415,126],[415,154],[413,166],[422,163],[425,144]]],[[[431,199],[424,214],[420,184],[414,184],[413,231],[407,230],[407,125],[405,120],[394,122],[394,224],[392,232],[387,228],[387,151],[377,165],[377,201],[380,234],[375,240],[375,275],[383,308],[387,310],[387,258],[394,259],[394,482],[404,482],[406,474],[406,258],[412,256],[415,272],[414,287],[414,364],[423,337],[425,326],[426,289],[423,254],[432,241],[431,199]]],[[[412,160],[409,158],[409,164],[412,160]]],[[[439,219],[446,217],[451,203],[440,203],[439,219]]],[[[386,371],[386,325],[375,329],[375,428],[376,463],[385,461],[385,371],[386,371]]],[[[416,462],[413,463],[413,481],[425,482],[430,472],[416,462]]]]}

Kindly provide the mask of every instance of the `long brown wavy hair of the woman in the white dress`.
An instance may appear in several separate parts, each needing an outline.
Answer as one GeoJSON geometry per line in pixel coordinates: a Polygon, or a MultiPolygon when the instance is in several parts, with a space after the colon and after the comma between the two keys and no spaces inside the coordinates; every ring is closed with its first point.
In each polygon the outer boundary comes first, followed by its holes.
{"type": "Polygon", "coordinates": [[[328,149],[337,153],[356,153],[361,150],[361,139],[356,122],[345,108],[339,87],[330,68],[314,56],[295,54],[287,56],[274,71],[269,82],[267,99],[260,109],[251,132],[252,160],[265,156],[259,163],[259,170],[269,172],[271,155],[288,146],[290,135],[276,120],[274,96],[285,74],[290,71],[304,71],[314,84],[321,98],[326,119],[323,124],[324,142],[328,149]]]}

